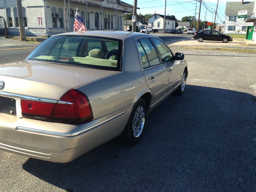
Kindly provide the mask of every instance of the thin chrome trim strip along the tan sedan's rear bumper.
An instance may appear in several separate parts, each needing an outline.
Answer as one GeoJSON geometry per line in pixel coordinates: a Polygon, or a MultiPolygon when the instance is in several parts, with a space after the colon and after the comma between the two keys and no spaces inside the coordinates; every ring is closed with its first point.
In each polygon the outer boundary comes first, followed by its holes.
{"type": "Polygon", "coordinates": [[[16,130],[18,131],[26,131],[26,132],[33,132],[33,133],[39,133],[39,134],[47,134],[47,135],[54,135],[54,136],[61,136],[61,137],[72,137],[72,136],[77,136],[77,135],[80,135],[80,134],[83,134],[91,129],[94,129],[94,128],[97,128],[98,126],[101,126],[103,124],[106,124],[112,120],[115,120],[121,116],[123,116],[125,114],[126,111],[120,113],[120,114],[117,114],[116,116],[112,117],[112,118],[109,118],[107,120],[104,120],[94,126],[91,126],[89,128],[86,128],[84,130],[81,130],[81,131],[78,131],[78,132],[74,132],[74,133],[60,133],[60,132],[52,132],[52,131],[44,131],[44,130],[38,130],[38,129],[33,129],[33,128],[26,128],[26,127],[16,127],[16,130]]]}

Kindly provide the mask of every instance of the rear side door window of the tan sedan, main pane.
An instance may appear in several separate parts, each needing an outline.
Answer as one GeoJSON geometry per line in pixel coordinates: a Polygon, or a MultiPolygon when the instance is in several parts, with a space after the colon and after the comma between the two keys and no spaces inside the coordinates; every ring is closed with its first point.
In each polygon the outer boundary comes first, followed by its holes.
{"type": "Polygon", "coordinates": [[[159,65],[160,60],[158,58],[158,54],[150,40],[148,38],[142,38],[139,42],[146,53],[150,67],[159,65]]]}

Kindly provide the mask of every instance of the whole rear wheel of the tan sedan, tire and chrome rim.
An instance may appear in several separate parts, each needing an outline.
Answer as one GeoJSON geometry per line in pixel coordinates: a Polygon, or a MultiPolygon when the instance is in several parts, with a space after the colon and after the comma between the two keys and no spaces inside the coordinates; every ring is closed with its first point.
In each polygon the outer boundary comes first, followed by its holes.
{"type": "Polygon", "coordinates": [[[144,132],[147,108],[144,99],[140,98],[133,106],[130,118],[119,136],[121,142],[134,145],[139,142],[144,132]]]}

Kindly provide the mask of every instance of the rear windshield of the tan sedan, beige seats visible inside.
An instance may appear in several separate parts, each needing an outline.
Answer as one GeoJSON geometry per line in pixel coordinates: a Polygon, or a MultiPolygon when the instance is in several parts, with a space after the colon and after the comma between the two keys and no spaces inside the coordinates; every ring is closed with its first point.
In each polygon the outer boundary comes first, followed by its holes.
{"type": "Polygon", "coordinates": [[[42,42],[29,61],[120,70],[121,40],[95,36],[58,35],[42,42]]]}

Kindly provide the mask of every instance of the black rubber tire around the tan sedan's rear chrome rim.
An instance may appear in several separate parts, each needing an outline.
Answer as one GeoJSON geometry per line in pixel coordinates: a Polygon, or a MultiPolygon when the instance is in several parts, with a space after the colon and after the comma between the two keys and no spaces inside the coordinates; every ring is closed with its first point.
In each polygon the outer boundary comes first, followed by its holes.
{"type": "MultiPolygon", "coordinates": [[[[135,145],[136,143],[138,143],[144,133],[144,130],[145,130],[145,120],[146,120],[146,115],[147,115],[147,108],[146,108],[146,102],[144,99],[140,98],[133,106],[132,108],[132,112],[130,114],[130,118],[123,130],[123,132],[120,134],[119,136],[119,140],[124,143],[124,144],[127,144],[127,145],[135,145]],[[143,108],[144,110],[144,124],[143,124],[143,127],[142,127],[142,131],[140,132],[140,134],[136,137],[134,136],[134,133],[133,133],[133,121],[134,121],[134,118],[136,116],[136,111],[141,109],[141,107],[143,108]]],[[[136,124],[138,125],[142,125],[142,122],[140,122],[140,118],[138,118],[136,120],[136,124]]]]}

